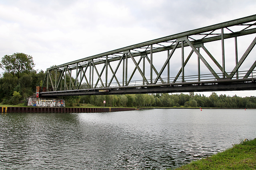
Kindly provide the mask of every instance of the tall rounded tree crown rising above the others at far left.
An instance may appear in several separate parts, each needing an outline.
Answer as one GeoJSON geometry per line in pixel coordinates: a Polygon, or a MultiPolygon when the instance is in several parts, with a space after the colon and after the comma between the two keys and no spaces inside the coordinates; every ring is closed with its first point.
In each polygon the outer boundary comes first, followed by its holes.
{"type": "Polygon", "coordinates": [[[30,72],[35,66],[32,56],[24,53],[14,53],[13,55],[5,55],[2,58],[0,67],[13,76],[20,77],[20,73],[30,72]]]}

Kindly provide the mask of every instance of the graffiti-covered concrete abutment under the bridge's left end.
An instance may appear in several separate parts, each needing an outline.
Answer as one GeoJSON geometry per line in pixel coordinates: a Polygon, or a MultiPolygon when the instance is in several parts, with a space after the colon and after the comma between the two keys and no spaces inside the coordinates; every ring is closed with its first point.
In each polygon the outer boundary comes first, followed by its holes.
{"type": "Polygon", "coordinates": [[[36,107],[65,107],[63,99],[29,98],[28,106],[36,107]]]}

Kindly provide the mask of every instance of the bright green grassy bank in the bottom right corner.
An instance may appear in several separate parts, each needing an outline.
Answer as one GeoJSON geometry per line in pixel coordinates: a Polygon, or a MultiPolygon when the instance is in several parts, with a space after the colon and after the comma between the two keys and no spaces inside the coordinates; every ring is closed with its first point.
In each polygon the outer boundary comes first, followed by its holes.
{"type": "Polygon", "coordinates": [[[234,145],[224,152],[193,161],[177,170],[253,170],[256,169],[256,139],[234,145]]]}

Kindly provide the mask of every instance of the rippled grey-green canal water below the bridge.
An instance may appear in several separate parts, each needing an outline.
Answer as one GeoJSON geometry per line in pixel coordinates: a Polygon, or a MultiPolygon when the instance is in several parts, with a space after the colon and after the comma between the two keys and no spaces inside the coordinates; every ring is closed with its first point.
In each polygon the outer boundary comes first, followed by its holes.
{"type": "Polygon", "coordinates": [[[0,169],[166,169],[256,138],[254,109],[0,113],[0,169]]]}

